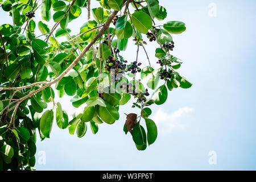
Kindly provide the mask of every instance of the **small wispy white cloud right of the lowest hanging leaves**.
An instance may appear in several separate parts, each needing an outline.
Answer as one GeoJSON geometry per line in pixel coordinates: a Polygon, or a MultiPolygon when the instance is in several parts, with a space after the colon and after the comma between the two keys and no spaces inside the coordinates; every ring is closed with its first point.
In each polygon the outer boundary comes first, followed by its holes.
{"type": "Polygon", "coordinates": [[[153,115],[152,120],[158,126],[160,133],[171,133],[175,129],[182,129],[185,127],[185,123],[181,122],[181,118],[184,114],[191,113],[192,111],[192,107],[181,107],[174,111],[174,113],[167,113],[160,107],[153,115]]]}

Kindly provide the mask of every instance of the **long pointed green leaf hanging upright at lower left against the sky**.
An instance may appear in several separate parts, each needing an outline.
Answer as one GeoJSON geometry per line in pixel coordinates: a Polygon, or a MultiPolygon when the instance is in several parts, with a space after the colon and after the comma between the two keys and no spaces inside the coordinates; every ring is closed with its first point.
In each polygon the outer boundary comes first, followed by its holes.
{"type": "Polygon", "coordinates": [[[53,110],[47,110],[44,112],[42,118],[40,119],[40,130],[47,138],[49,138],[49,134],[52,130],[53,117],[53,110]]]}

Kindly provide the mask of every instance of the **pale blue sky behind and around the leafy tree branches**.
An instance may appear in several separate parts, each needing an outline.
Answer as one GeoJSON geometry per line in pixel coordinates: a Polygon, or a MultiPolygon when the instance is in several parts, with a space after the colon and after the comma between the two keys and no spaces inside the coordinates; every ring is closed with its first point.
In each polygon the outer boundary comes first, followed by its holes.
{"type": "MultiPolygon", "coordinates": [[[[95,5],[94,2],[93,5],[95,5]]],[[[137,151],[130,134],[122,131],[126,116],[135,112],[120,108],[114,125],[102,124],[93,135],[69,135],[54,123],[50,139],[37,142],[46,154],[46,164],[38,170],[251,170],[256,169],[255,134],[255,19],[256,2],[245,1],[160,1],[167,7],[168,20],[180,20],[187,30],[174,35],[173,54],[184,61],[179,73],[187,77],[190,89],[168,92],[168,100],[152,107],[158,123],[156,142],[146,151],[137,151]],[[216,5],[216,17],[209,5],[216,5]],[[209,151],[215,151],[217,164],[210,165],[209,151]]],[[[72,34],[79,32],[86,10],[74,20],[72,34]]],[[[38,16],[40,16],[38,14],[38,16]]],[[[1,11],[0,23],[9,23],[1,11]]],[[[146,46],[155,62],[152,44],[146,46]]],[[[122,55],[135,59],[130,42],[122,55]]],[[[146,65],[146,57],[139,55],[146,65]]],[[[156,63],[154,63],[156,67],[156,63]]],[[[154,66],[153,66],[154,67],[154,66]]],[[[68,114],[75,112],[69,97],[59,101],[68,114]]]]}

